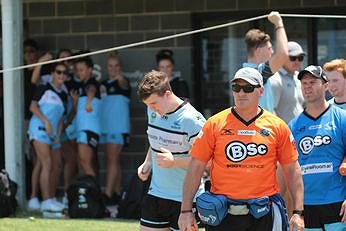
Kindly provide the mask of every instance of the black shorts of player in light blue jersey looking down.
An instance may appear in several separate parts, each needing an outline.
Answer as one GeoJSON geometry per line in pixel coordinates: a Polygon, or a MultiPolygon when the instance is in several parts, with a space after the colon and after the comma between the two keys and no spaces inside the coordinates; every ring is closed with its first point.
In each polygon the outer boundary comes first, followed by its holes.
{"type": "MultiPolygon", "coordinates": [[[[142,202],[140,224],[150,228],[171,228],[179,230],[178,219],[181,203],[178,201],[145,195],[142,202]]],[[[196,211],[195,208],[193,211],[196,211]]],[[[195,213],[197,219],[198,215],[195,213]]],[[[197,222],[199,218],[197,219],[197,222]]]]}

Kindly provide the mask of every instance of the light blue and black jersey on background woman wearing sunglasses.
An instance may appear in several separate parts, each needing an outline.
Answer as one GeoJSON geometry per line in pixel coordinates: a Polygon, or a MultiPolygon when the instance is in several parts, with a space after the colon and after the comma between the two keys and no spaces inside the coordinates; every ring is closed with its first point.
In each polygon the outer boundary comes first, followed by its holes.
{"type": "MultiPolygon", "coordinates": [[[[51,136],[55,137],[58,132],[59,121],[66,109],[67,93],[62,88],[58,89],[51,82],[48,82],[38,87],[32,101],[37,102],[41,113],[52,125],[53,134],[51,136]]],[[[33,115],[29,123],[29,134],[44,129],[44,122],[36,115],[33,115]]]]}

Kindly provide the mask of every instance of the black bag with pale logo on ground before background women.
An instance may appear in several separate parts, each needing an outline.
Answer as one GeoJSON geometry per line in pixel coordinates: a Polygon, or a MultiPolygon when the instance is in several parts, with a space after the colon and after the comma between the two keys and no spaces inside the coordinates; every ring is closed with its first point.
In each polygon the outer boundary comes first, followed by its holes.
{"type": "Polygon", "coordinates": [[[67,189],[68,215],[71,218],[103,218],[106,206],[94,176],[80,175],[67,189]]]}

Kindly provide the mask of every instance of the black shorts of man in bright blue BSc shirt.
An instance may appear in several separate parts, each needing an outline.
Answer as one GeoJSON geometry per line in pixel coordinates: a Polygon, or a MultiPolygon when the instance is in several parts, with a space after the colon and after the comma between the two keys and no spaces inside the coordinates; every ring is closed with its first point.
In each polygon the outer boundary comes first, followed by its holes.
{"type": "Polygon", "coordinates": [[[342,202],[326,205],[304,205],[305,228],[323,228],[325,224],[341,222],[342,202]]]}

